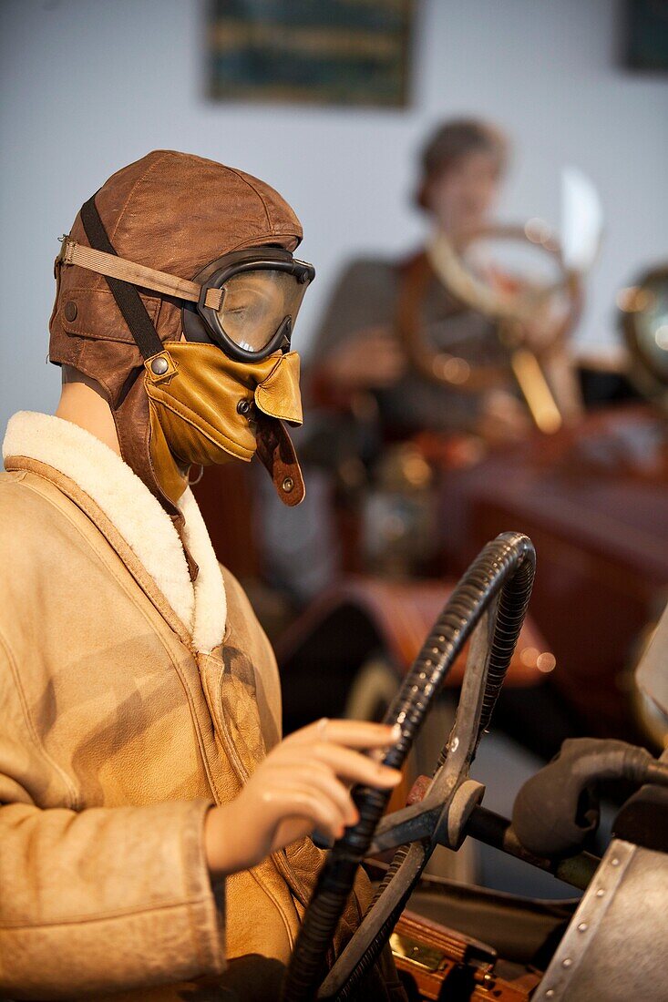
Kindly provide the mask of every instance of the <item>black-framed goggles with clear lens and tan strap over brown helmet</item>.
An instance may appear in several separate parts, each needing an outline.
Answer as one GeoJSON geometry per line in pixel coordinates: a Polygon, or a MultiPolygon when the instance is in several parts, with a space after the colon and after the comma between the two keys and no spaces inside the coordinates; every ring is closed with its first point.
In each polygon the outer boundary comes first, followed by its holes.
{"type": "Polygon", "coordinates": [[[187,341],[209,342],[238,362],[288,351],[304,293],[315,269],[281,247],[225,255],[192,282],[62,237],[56,268],[78,265],[107,279],[185,301],[187,341]]]}

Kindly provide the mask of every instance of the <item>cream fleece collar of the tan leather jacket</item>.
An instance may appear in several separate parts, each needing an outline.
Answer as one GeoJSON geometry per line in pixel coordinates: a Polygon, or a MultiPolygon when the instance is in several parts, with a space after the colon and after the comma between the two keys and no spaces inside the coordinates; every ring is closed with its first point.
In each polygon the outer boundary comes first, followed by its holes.
{"type": "Polygon", "coordinates": [[[207,527],[190,488],[179,507],[184,539],[200,567],[195,584],[170,516],[123,460],[70,421],[19,411],[7,425],[3,459],[24,456],[69,477],[113,523],[186,625],[195,648],[210,653],[223,640],[225,585],[207,527]]]}

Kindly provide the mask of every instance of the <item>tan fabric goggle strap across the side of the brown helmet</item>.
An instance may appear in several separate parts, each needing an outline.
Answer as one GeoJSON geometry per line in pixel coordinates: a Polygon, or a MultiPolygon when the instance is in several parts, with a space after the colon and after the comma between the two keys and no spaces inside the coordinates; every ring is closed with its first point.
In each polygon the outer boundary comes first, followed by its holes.
{"type": "MultiPolygon", "coordinates": [[[[176,296],[180,300],[188,300],[190,303],[199,303],[202,295],[202,287],[197,282],[189,282],[188,279],[180,279],[176,275],[168,275],[166,272],[158,272],[154,268],[146,268],[144,265],[137,265],[119,258],[117,255],[105,254],[103,250],[96,250],[94,247],[86,247],[69,236],[63,237],[62,250],[58,257],[61,265],[78,265],[79,268],[86,268],[89,272],[96,272],[107,279],[118,279],[121,282],[129,282],[133,286],[141,289],[150,289],[156,293],[163,293],[165,296],[176,296]]],[[[208,289],[205,296],[205,306],[212,310],[220,310],[223,300],[221,289],[208,289]]]]}

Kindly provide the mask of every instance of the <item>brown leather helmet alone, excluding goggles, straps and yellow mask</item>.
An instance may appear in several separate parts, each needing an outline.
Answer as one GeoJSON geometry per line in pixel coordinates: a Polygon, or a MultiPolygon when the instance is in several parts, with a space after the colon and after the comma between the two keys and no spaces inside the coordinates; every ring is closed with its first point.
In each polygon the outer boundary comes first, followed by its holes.
{"type": "MultiPolygon", "coordinates": [[[[266,244],[292,252],[302,238],[292,208],[264,181],[174,150],[154,150],[116,171],[94,204],[116,255],[186,280],[231,252],[266,244]]],[[[70,236],[90,245],[80,212],[70,236]]],[[[123,459],[177,515],[151,469],[148,400],[137,378],[143,359],[107,281],[76,266],[56,266],[56,281],[50,361],[99,383],[123,459]]],[[[139,295],[160,341],[179,341],[183,303],[147,289],[139,295]]]]}

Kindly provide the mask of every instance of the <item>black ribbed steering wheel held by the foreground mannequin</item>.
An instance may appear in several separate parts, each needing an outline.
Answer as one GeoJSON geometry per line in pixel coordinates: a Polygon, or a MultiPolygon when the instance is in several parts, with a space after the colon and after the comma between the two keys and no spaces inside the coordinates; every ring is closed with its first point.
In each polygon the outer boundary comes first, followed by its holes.
{"type": "Polygon", "coordinates": [[[486,544],[452,592],[384,719],[385,723],[398,723],[401,736],[383,762],[400,769],[470,637],[454,724],[429,789],[421,804],[382,822],[389,792],[369,787],[353,790],[359,821],[346,830],[325,861],[292,955],[283,1002],[354,997],[356,986],[389,939],[436,845],[445,843],[456,849],[463,841],[463,826],[483,789],[468,779],[468,770],[489,724],[522,629],[535,566],[531,540],[521,533],[506,532],[486,544]],[[391,838],[382,843],[382,833],[390,835],[392,829],[400,832],[404,845],[395,854],[357,932],[323,981],[327,950],[357,869],[372,848],[374,835],[374,849],[400,844],[391,838]]]}

